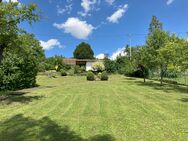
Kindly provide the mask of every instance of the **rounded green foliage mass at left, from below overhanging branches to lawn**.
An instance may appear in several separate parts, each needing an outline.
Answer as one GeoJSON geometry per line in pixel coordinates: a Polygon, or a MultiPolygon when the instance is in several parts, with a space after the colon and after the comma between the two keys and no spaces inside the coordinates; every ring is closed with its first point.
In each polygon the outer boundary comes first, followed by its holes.
{"type": "Polygon", "coordinates": [[[0,64],[1,90],[29,88],[36,85],[39,60],[43,51],[32,35],[20,35],[14,47],[4,50],[0,64]]]}

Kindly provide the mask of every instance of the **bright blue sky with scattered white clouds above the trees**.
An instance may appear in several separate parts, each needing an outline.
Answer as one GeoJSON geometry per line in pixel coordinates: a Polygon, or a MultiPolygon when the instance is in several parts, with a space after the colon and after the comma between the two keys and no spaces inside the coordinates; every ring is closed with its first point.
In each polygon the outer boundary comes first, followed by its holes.
{"type": "Polygon", "coordinates": [[[38,4],[43,18],[32,26],[22,24],[41,41],[47,57],[72,57],[80,42],[88,42],[95,55],[113,58],[129,44],[143,45],[152,15],[164,29],[187,37],[187,0],[20,0],[38,4]]]}

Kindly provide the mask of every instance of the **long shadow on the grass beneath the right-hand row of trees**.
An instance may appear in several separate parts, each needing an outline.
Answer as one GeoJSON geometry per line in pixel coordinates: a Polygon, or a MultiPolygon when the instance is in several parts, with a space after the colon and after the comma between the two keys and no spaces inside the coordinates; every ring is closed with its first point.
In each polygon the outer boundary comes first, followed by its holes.
{"type": "Polygon", "coordinates": [[[153,88],[155,90],[160,90],[160,91],[164,91],[166,93],[172,93],[172,92],[177,92],[177,93],[183,93],[183,94],[188,94],[188,87],[187,86],[180,86],[180,85],[175,85],[175,84],[166,84],[164,83],[163,85],[161,85],[159,82],[157,81],[153,81],[153,80],[146,80],[146,82],[144,83],[141,79],[136,79],[136,80],[131,80],[131,79],[127,79],[124,82],[130,84],[130,85],[138,85],[138,86],[146,86],[146,87],[150,87],[153,88]]]}

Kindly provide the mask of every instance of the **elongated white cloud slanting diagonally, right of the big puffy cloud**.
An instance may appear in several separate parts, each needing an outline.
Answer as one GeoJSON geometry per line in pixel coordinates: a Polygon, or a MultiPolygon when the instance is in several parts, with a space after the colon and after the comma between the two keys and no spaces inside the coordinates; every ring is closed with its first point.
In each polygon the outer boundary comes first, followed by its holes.
{"type": "Polygon", "coordinates": [[[128,4],[125,4],[123,7],[115,11],[110,17],[107,17],[107,20],[111,23],[118,23],[118,20],[125,14],[128,9],[128,4]]]}

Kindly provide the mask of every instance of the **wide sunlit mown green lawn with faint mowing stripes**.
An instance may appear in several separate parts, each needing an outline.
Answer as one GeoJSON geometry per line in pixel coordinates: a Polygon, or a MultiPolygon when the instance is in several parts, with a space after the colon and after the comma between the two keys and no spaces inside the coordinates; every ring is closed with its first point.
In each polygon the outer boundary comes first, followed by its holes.
{"type": "Polygon", "coordinates": [[[38,77],[0,101],[0,141],[187,141],[188,88],[38,77]]]}

